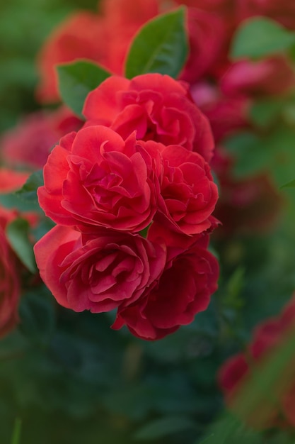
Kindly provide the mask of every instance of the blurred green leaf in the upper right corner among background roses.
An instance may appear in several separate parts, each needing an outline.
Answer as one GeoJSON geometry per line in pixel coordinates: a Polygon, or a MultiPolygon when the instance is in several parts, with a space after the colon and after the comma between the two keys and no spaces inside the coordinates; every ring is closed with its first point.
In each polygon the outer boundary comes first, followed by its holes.
{"type": "Polygon", "coordinates": [[[257,59],[282,52],[295,43],[295,33],[270,18],[256,17],[247,20],[233,36],[231,57],[257,59]]]}

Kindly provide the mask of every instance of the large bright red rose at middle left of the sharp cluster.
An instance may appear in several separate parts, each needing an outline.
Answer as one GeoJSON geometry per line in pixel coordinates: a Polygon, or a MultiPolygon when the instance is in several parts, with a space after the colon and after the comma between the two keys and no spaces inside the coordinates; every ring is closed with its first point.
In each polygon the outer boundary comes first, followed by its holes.
{"type": "Polygon", "coordinates": [[[62,225],[140,231],[156,212],[156,155],[105,126],[70,133],[44,167],[40,206],[62,225]]]}

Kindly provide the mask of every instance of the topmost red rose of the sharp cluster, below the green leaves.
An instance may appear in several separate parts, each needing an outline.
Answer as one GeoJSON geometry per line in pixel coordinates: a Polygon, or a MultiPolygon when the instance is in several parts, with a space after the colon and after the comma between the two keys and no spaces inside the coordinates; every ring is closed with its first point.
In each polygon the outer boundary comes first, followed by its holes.
{"type": "Polygon", "coordinates": [[[212,157],[207,118],[190,98],[188,85],[167,75],[109,77],[88,94],[83,114],[87,126],[109,126],[124,139],[136,130],[137,139],[182,145],[207,161],[212,157]]]}

